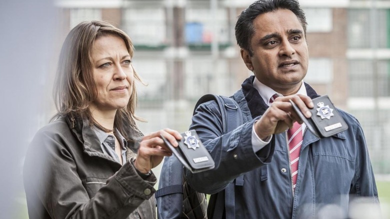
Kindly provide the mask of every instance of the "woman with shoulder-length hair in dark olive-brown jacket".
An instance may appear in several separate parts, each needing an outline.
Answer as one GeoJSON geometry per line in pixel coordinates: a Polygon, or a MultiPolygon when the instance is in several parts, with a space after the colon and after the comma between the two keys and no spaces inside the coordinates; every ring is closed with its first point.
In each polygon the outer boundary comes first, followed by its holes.
{"type": "Polygon", "coordinates": [[[181,135],[137,129],[132,55],[130,38],[103,21],[82,22],[67,35],[55,78],[57,114],[25,157],[30,219],[155,218],[150,169],[171,155],[160,135],[175,146],[181,135]]]}

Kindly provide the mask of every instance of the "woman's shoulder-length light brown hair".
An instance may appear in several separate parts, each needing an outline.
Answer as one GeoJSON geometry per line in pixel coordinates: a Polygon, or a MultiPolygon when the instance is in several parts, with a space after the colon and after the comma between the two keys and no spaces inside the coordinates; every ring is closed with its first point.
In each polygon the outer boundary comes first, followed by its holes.
{"type": "MultiPolygon", "coordinates": [[[[115,34],[121,37],[126,44],[127,51],[133,56],[134,47],[131,39],[125,32],[104,21],[84,21],[70,30],[63,42],[58,60],[57,72],[54,80],[53,98],[57,114],[53,119],[64,115],[85,115],[90,124],[108,131],[98,124],[92,117],[88,107],[97,97],[96,83],[92,74],[92,58],[90,51],[94,41],[101,36],[115,34]]],[[[142,80],[134,70],[134,78],[142,80]]],[[[137,102],[135,80],[127,106],[116,111],[114,127],[126,135],[124,124],[136,128],[135,119],[143,121],[134,115],[137,102]]],[[[128,137],[128,136],[125,136],[128,137]]]]}

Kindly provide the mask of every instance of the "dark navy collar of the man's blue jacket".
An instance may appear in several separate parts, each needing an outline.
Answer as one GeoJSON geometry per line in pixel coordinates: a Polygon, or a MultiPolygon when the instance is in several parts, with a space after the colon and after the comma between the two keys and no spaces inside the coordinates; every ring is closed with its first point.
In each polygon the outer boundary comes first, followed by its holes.
{"type": "MultiPolygon", "coordinates": [[[[261,98],[256,88],[253,87],[253,80],[254,80],[254,75],[246,78],[244,82],[241,84],[242,93],[248,104],[248,108],[250,110],[250,114],[252,118],[262,115],[265,112],[265,110],[268,108],[268,105],[261,98]]],[[[304,83],[304,85],[306,87],[307,95],[310,98],[315,98],[319,96],[310,85],[308,85],[307,83],[304,83]]]]}

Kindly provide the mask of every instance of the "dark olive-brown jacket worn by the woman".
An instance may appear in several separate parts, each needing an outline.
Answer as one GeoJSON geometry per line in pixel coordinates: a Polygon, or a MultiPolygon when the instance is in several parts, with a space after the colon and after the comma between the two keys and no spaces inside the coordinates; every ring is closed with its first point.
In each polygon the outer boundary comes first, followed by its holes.
{"type": "Polygon", "coordinates": [[[122,166],[103,153],[86,118],[60,117],[41,128],[24,161],[29,218],[155,218],[156,178],[137,174],[133,142],[122,166]]]}

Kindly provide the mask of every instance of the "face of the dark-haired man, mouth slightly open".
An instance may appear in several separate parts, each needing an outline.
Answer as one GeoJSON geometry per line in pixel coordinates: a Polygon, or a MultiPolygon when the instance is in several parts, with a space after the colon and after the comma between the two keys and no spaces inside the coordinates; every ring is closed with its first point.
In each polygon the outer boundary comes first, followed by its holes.
{"type": "Polygon", "coordinates": [[[283,95],[295,93],[308,65],[306,39],[298,18],[290,10],[278,9],[258,15],[253,26],[253,55],[241,49],[246,66],[275,91],[283,95]]]}

